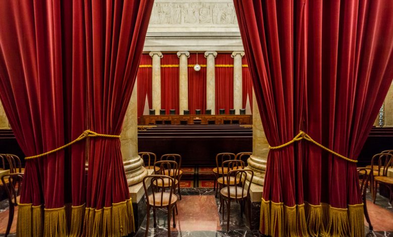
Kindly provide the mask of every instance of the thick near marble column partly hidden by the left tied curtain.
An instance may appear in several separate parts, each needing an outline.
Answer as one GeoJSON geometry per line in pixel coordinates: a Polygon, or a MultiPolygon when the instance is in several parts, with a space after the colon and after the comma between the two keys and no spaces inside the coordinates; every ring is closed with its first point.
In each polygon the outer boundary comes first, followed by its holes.
{"type": "Polygon", "coordinates": [[[143,166],[143,160],[138,155],[138,106],[137,82],[125,113],[123,129],[120,134],[121,155],[128,186],[142,182],[148,174],[143,166]]]}

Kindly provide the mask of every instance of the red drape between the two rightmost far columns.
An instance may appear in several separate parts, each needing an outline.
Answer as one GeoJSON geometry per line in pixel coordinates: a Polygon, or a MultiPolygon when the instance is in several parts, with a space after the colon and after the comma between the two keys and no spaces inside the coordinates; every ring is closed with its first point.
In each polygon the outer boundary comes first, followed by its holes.
{"type": "Polygon", "coordinates": [[[230,53],[218,53],[215,64],[216,114],[220,113],[220,108],[229,114],[229,109],[233,108],[233,58],[230,53]]]}

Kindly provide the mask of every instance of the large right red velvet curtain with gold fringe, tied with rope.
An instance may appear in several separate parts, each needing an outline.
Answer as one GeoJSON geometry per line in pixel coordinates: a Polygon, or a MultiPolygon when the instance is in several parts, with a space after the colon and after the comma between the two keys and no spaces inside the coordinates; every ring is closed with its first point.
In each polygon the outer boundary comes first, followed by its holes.
{"type": "MultiPolygon", "coordinates": [[[[302,130],[356,160],[393,78],[393,3],[234,3],[269,144],[302,130]]],[[[260,227],[364,236],[356,164],[305,140],[271,150],[260,227]]]]}

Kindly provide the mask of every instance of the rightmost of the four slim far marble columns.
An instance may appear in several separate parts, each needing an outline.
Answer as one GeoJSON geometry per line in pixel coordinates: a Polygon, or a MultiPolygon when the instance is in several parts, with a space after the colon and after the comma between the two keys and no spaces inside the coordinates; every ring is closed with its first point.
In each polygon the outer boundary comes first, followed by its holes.
{"type": "Polygon", "coordinates": [[[232,52],[233,57],[233,108],[236,112],[240,112],[243,108],[243,77],[242,77],[242,62],[241,58],[244,56],[243,51],[232,52]]]}

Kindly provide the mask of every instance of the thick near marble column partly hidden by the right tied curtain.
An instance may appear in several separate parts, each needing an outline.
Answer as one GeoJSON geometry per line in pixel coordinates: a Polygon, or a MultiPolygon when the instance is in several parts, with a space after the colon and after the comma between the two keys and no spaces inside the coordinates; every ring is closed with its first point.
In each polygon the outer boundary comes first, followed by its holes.
{"type": "Polygon", "coordinates": [[[252,155],[248,158],[248,168],[254,171],[252,183],[264,185],[269,143],[260,120],[255,94],[252,93],[252,155]]]}

